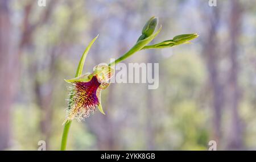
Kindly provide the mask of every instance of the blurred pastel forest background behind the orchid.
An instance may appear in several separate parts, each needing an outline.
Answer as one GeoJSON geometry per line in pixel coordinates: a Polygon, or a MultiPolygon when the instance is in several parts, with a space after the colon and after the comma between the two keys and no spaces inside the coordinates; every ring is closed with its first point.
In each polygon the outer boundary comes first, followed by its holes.
{"type": "Polygon", "coordinates": [[[158,16],[154,40],[196,32],[192,44],[141,51],[125,63],[159,63],[159,88],[112,84],[106,115],[72,123],[72,150],[256,149],[256,1],[0,0],[0,150],[60,148],[68,84],[97,34],[85,72],[109,63],[158,16]]]}

